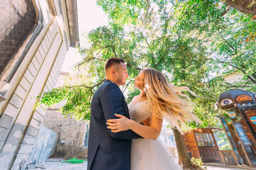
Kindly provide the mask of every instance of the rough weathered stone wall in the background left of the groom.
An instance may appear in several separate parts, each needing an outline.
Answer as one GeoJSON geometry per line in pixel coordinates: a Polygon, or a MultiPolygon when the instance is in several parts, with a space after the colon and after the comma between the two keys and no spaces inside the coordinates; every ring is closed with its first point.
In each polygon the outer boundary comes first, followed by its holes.
{"type": "Polygon", "coordinates": [[[59,135],[54,157],[87,159],[87,147],[83,147],[85,121],[65,118],[58,110],[48,109],[43,125],[59,135]]]}

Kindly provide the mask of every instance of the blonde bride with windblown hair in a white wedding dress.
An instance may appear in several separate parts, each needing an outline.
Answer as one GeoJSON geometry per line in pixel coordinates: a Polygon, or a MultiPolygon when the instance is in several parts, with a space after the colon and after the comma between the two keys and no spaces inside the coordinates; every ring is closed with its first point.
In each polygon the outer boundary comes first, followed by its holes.
{"type": "Polygon", "coordinates": [[[133,130],[144,137],[132,140],[132,170],[182,169],[178,162],[174,161],[171,152],[157,138],[164,118],[172,128],[177,128],[180,132],[181,125],[185,125],[185,122],[200,122],[196,115],[188,111],[188,103],[178,97],[188,98],[181,91],[190,90],[188,87],[172,86],[164,74],[150,68],[144,69],[134,79],[134,86],[141,90],[141,93],[134,96],[128,105],[131,119],[115,114],[119,119],[107,120],[107,128],[112,132],[133,130]],[[150,120],[150,125],[142,125],[144,120],[150,120]]]}

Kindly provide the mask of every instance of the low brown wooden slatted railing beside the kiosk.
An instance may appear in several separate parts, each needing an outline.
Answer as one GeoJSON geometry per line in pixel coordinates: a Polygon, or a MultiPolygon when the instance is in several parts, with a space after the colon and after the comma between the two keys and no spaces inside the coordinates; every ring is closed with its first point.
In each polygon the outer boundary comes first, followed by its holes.
{"type": "Polygon", "coordinates": [[[238,165],[238,159],[233,150],[221,150],[218,151],[218,154],[220,155],[220,160],[223,164],[238,165]]]}

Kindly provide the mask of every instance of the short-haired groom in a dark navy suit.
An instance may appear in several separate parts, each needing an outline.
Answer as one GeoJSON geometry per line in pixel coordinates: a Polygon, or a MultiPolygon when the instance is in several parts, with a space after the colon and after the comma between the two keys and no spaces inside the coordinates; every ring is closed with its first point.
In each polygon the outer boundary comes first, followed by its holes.
{"type": "Polygon", "coordinates": [[[129,170],[132,139],[139,138],[132,130],[111,132],[107,120],[114,113],[129,118],[127,103],[119,86],[128,76],[125,61],[113,57],[105,63],[106,81],[95,92],[91,103],[87,170],[129,170]]]}

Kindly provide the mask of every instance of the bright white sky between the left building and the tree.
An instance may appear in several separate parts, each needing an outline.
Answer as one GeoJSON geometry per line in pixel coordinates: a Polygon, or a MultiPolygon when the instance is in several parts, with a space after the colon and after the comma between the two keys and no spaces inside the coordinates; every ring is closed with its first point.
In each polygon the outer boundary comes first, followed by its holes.
{"type": "MultiPolygon", "coordinates": [[[[82,33],[88,32],[99,26],[107,26],[107,15],[97,6],[96,0],[77,0],[78,3],[78,30],[80,37],[80,46],[85,42],[82,33]]],[[[75,63],[82,60],[82,57],[76,53],[76,49],[69,47],[63,67],[60,72],[71,72],[75,63]]]]}

